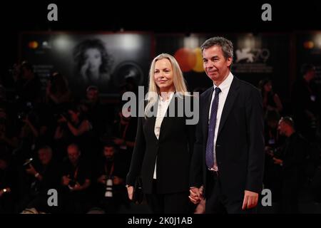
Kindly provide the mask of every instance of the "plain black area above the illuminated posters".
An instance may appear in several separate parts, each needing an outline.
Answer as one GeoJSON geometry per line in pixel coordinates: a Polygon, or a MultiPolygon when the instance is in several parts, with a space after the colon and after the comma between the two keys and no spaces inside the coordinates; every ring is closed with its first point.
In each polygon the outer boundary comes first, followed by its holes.
{"type": "Polygon", "coordinates": [[[18,60],[21,31],[291,33],[321,30],[320,1],[2,1],[1,74],[18,60]],[[47,6],[58,6],[48,21],[47,6]],[[272,6],[263,21],[262,5],[272,6]]]}

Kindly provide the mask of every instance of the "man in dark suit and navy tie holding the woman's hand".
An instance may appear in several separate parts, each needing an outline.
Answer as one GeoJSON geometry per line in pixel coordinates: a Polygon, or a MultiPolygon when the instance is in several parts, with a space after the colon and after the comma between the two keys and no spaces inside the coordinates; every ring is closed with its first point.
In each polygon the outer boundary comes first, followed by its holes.
{"type": "Polygon", "coordinates": [[[200,95],[190,200],[197,204],[204,197],[206,213],[255,212],[263,185],[262,98],[230,72],[231,41],[210,38],[201,50],[213,87],[200,95]]]}

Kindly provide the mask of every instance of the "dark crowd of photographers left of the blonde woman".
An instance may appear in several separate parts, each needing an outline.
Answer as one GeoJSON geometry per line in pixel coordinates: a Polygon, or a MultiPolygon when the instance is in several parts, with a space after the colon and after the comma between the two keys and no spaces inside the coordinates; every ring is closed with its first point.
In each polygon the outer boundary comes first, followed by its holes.
{"type": "Polygon", "coordinates": [[[60,73],[45,88],[28,62],[11,73],[14,90],[0,88],[0,213],[128,207],[137,120],[124,117],[118,103],[104,103],[96,86],[76,98],[60,73]],[[47,202],[49,190],[57,192],[57,207],[47,202]]]}

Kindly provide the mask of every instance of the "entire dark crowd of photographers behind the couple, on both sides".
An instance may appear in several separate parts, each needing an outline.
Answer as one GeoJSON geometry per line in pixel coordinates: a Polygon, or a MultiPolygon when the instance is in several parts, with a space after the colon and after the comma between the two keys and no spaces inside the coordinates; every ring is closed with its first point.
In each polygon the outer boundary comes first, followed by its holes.
{"type": "MultiPolygon", "coordinates": [[[[123,116],[121,100],[104,102],[96,86],[75,97],[60,73],[43,86],[28,62],[16,65],[11,76],[12,90],[0,83],[0,213],[117,213],[122,205],[130,207],[125,179],[137,120],[123,116]],[[57,207],[49,206],[49,190],[58,193],[57,207]]],[[[280,205],[277,212],[297,213],[302,200],[321,201],[320,86],[315,85],[314,66],[302,66],[289,105],[272,90],[272,81],[260,81],[263,184],[280,205]]],[[[120,89],[135,88],[128,80],[120,89]]]]}

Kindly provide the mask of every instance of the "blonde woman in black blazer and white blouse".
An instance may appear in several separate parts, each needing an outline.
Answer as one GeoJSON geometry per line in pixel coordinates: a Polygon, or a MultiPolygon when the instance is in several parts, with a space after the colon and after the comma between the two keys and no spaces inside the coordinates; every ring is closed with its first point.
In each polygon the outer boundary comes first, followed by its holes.
{"type": "Polygon", "coordinates": [[[190,212],[188,174],[194,130],[193,125],[186,125],[185,113],[177,115],[182,111],[179,103],[186,92],[175,58],[167,53],[154,58],[145,116],[138,118],[136,146],[126,180],[128,197],[132,199],[136,177],[141,175],[143,192],[153,213],[190,212]]]}

